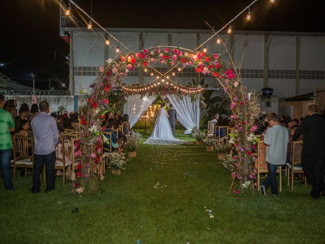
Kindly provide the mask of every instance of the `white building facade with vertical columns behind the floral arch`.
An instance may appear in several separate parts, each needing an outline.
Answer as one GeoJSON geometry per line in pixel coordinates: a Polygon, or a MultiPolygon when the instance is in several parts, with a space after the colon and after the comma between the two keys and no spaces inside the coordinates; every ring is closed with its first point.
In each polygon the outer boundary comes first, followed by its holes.
{"type": "MultiPolygon", "coordinates": [[[[88,88],[99,74],[99,67],[105,65],[108,58],[116,58],[115,49],[121,44],[110,38],[101,29],[89,31],[85,28],[65,28],[70,33],[70,89],[75,95],[88,88]]],[[[194,29],[117,29],[107,28],[116,39],[132,52],[155,46],[176,46],[194,50],[212,36],[208,30],[194,29]]],[[[248,89],[258,92],[263,87],[274,89],[273,95],[279,98],[294,97],[325,87],[325,33],[284,33],[284,32],[247,32],[237,31],[228,35],[222,33],[220,39],[231,52],[242,81],[248,89]],[[299,74],[299,75],[296,75],[299,74]]],[[[204,46],[209,54],[221,53],[224,65],[229,60],[222,44],[212,38],[204,46]]],[[[201,48],[201,50],[203,47],[201,48]]],[[[123,52],[122,52],[123,53],[123,52]]],[[[167,65],[156,63],[153,67],[161,73],[169,70],[167,65]]],[[[129,72],[124,82],[145,84],[155,78],[150,77],[151,70],[142,68],[129,72]]],[[[215,78],[201,76],[193,67],[177,72],[172,79],[187,84],[205,78],[210,86],[216,86],[215,78]]]]}

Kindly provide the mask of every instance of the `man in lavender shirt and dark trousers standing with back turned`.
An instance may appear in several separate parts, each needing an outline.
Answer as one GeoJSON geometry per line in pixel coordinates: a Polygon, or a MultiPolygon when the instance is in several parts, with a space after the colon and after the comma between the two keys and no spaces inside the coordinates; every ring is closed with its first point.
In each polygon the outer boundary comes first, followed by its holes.
{"type": "Polygon", "coordinates": [[[55,119],[48,115],[50,106],[48,102],[40,102],[40,113],[31,121],[34,131],[34,169],[32,175],[32,193],[40,192],[40,173],[45,164],[47,186],[45,192],[55,189],[54,165],[55,165],[55,145],[58,143],[58,131],[55,119]]]}

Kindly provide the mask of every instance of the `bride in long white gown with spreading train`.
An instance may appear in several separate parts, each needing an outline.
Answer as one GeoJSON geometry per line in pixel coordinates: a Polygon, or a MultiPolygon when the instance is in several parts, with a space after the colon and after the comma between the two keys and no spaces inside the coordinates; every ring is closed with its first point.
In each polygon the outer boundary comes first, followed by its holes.
{"type": "Polygon", "coordinates": [[[172,145],[183,142],[174,137],[168,117],[169,115],[164,109],[164,105],[161,105],[151,136],[144,142],[144,144],[172,145]]]}

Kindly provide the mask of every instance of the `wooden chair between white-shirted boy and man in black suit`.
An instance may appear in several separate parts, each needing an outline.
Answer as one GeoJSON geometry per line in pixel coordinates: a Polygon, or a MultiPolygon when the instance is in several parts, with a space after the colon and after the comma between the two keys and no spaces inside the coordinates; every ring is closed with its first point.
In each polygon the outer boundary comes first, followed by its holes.
{"type": "MultiPolygon", "coordinates": [[[[295,173],[304,173],[303,168],[301,166],[295,166],[300,164],[301,165],[301,151],[303,149],[303,141],[294,141],[293,142],[293,155],[291,157],[291,164],[286,163],[285,166],[287,167],[287,186],[289,186],[289,181],[291,178],[291,192],[294,191],[294,175],[295,173]]],[[[307,177],[305,175],[305,187],[307,186],[307,177]]]]}

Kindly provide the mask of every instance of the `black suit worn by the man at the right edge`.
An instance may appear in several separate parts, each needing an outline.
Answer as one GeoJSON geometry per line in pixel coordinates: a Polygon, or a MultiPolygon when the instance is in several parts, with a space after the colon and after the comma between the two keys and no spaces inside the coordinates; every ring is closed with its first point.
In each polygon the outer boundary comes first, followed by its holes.
{"type": "Polygon", "coordinates": [[[325,190],[325,119],[318,114],[306,116],[301,126],[296,130],[293,141],[304,135],[302,149],[302,168],[313,190],[310,195],[319,197],[319,192],[325,190]]]}

